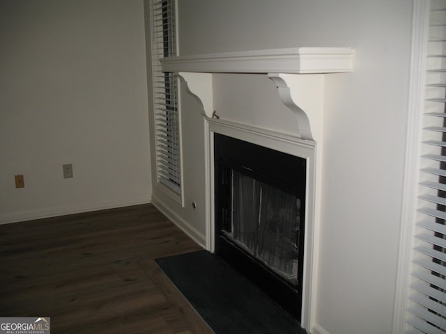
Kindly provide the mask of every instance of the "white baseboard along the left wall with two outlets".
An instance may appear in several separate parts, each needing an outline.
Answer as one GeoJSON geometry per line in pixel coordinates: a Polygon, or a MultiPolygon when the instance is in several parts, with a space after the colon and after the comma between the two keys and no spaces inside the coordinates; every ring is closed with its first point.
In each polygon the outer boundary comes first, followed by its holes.
{"type": "Polygon", "coordinates": [[[115,207],[128,207],[130,205],[147,204],[151,202],[151,197],[152,197],[151,193],[148,193],[139,196],[116,198],[113,200],[103,200],[99,202],[82,203],[78,205],[47,207],[45,209],[36,209],[25,212],[10,212],[6,214],[0,214],[0,225],[8,223],[17,223],[19,221],[31,221],[34,219],[49,218],[54,216],[65,216],[67,214],[79,214],[81,212],[112,209],[115,207]]]}

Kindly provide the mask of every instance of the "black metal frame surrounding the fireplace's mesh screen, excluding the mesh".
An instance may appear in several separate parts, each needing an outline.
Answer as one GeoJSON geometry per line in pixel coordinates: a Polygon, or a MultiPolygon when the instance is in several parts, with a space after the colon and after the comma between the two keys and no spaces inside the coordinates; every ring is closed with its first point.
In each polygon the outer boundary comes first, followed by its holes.
{"type": "Polygon", "coordinates": [[[258,285],[271,299],[300,321],[302,311],[302,277],[305,241],[306,159],[215,134],[215,253],[258,285]],[[234,149],[235,148],[235,149],[234,149]],[[269,159],[268,159],[268,158],[269,159]],[[230,237],[233,203],[231,170],[253,180],[273,186],[300,200],[298,270],[296,283],[280,276],[272,267],[256,257],[236,239],[230,237]]]}

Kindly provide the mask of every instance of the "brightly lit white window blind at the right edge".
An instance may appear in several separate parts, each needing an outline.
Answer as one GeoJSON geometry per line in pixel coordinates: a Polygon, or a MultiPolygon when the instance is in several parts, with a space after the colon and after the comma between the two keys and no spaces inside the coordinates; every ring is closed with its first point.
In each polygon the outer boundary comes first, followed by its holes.
{"type": "Polygon", "coordinates": [[[432,0],[406,333],[446,333],[446,0],[432,0]]]}

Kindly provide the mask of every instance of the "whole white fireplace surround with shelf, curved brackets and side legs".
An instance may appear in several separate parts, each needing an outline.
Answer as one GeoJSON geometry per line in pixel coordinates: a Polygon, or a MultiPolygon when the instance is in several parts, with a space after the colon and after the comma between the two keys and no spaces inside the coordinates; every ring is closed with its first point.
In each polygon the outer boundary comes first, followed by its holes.
{"type": "MultiPolygon", "coordinates": [[[[164,72],[178,74],[180,84],[197,101],[205,127],[206,248],[214,250],[213,134],[232,136],[307,159],[305,259],[302,327],[323,334],[314,319],[318,268],[318,228],[323,160],[323,89],[325,74],[353,72],[349,47],[297,47],[177,56],[161,60],[164,72]],[[295,134],[260,129],[213,118],[213,74],[265,74],[274,81],[280,100],[295,115],[295,134]]],[[[218,113],[218,111],[217,111],[218,113]]]]}

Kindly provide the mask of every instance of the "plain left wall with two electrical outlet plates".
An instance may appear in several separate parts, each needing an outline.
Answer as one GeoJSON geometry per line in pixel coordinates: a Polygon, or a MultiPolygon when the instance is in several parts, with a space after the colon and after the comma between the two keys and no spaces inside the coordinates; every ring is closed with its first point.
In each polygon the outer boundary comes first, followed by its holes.
{"type": "Polygon", "coordinates": [[[0,49],[0,223],[149,202],[143,1],[0,1],[0,49]]]}

